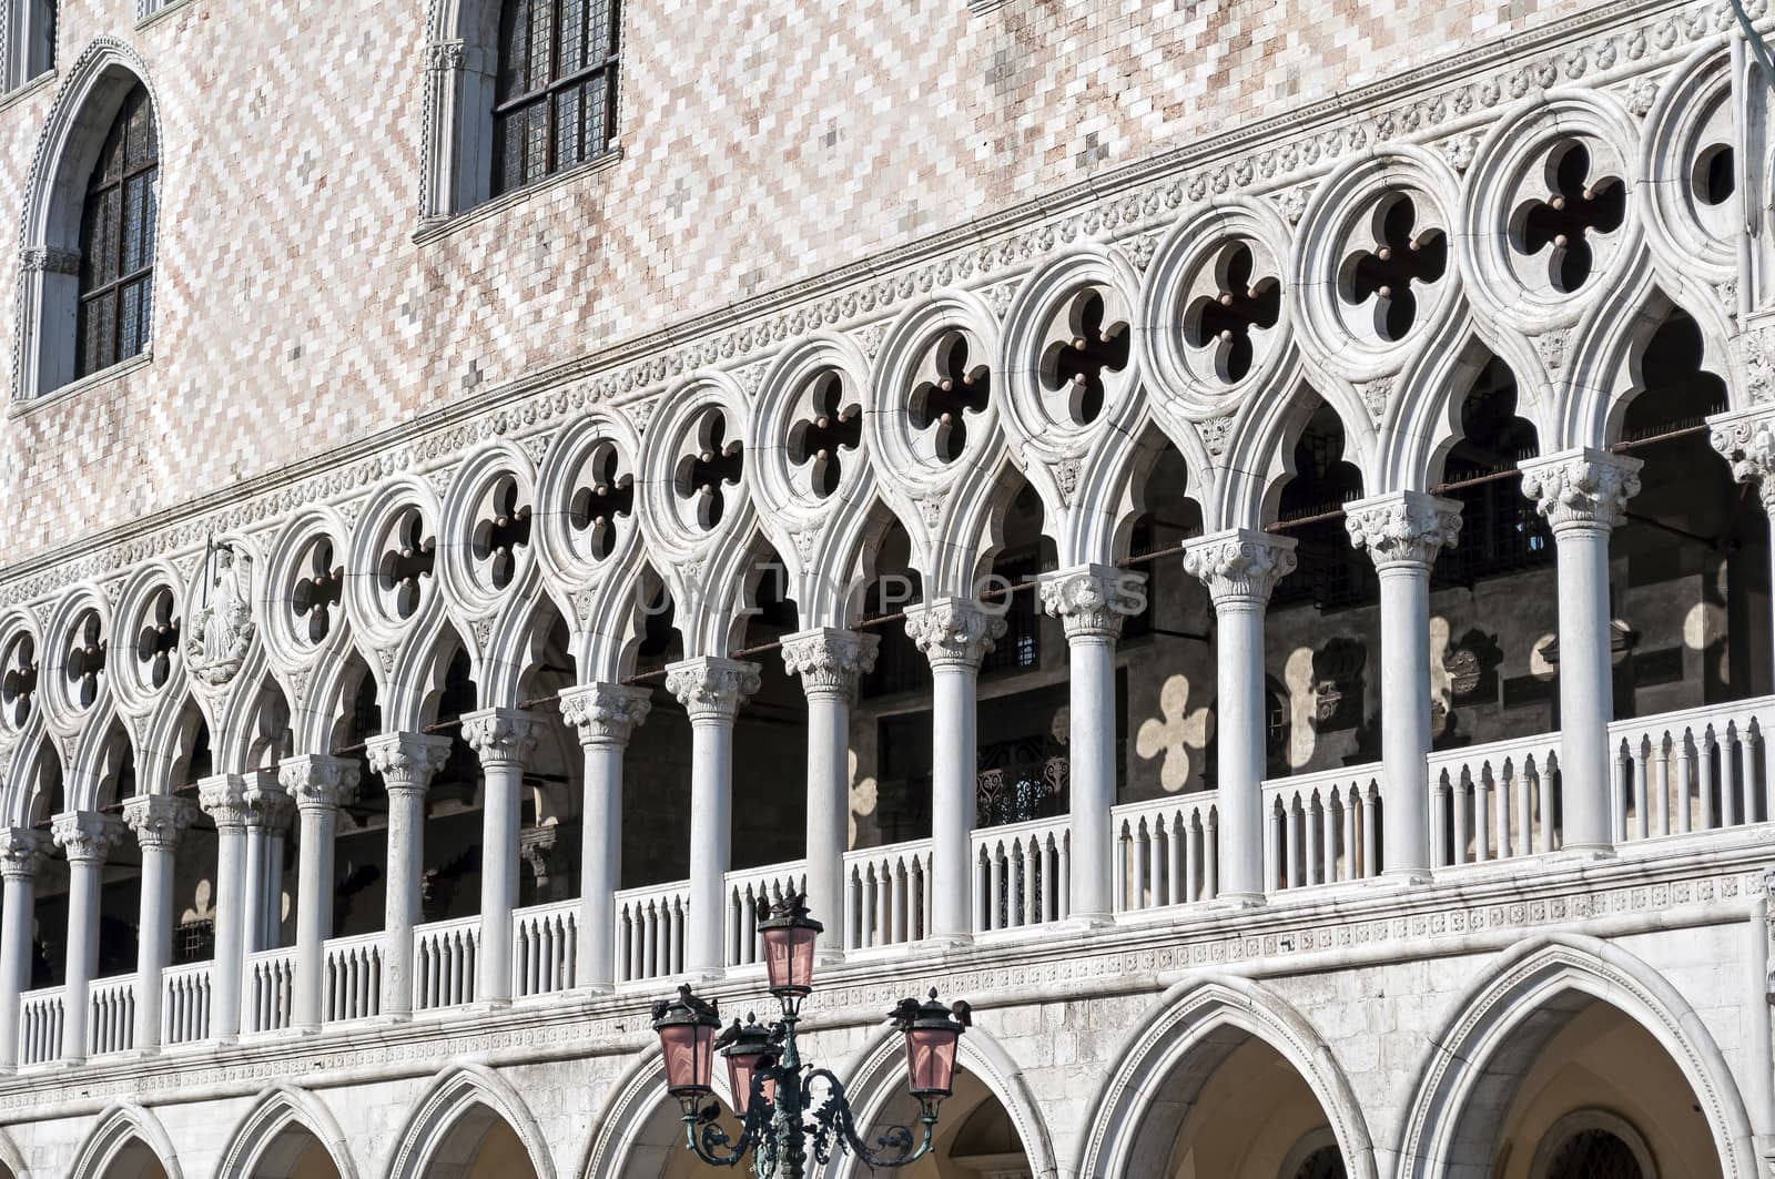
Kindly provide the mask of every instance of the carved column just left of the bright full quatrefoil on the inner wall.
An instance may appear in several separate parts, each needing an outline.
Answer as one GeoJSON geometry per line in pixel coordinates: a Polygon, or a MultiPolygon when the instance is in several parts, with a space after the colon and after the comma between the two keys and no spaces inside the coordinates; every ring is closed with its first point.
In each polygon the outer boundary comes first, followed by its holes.
{"type": "Polygon", "coordinates": [[[1072,684],[1069,804],[1072,813],[1070,916],[1108,920],[1113,911],[1109,808],[1116,785],[1115,643],[1122,620],[1145,604],[1145,575],[1109,565],[1079,565],[1040,582],[1042,609],[1067,629],[1072,684]]]}

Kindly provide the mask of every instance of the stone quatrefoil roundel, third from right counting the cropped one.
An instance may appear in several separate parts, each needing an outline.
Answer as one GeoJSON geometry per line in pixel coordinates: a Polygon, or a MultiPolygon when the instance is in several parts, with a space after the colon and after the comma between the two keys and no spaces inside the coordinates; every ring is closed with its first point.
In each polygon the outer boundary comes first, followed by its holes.
{"type": "Polygon", "coordinates": [[[1395,147],[1342,170],[1301,218],[1301,337],[1351,378],[1397,364],[1452,302],[1448,167],[1395,147]]]}

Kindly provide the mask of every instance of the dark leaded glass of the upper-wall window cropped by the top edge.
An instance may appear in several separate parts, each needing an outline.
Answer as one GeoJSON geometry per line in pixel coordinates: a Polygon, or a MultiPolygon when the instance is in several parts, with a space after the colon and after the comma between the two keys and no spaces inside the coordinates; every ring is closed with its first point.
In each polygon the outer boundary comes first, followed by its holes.
{"type": "Polygon", "coordinates": [[[616,130],[616,0],[506,0],[493,195],[600,154],[616,130]]]}

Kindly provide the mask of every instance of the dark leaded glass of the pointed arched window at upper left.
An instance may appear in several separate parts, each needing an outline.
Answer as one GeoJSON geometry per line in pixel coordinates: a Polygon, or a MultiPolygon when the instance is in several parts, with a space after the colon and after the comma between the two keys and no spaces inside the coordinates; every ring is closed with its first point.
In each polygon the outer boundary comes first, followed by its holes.
{"type": "Polygon", "coordinates": [[[147,91],[137,85],[112,123],[80,217],[80,321],[75,376],[147,346],[154,298],[154,176],[160,146],[147,91]]]}

